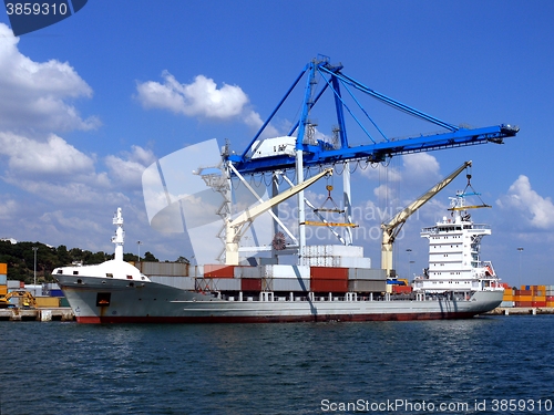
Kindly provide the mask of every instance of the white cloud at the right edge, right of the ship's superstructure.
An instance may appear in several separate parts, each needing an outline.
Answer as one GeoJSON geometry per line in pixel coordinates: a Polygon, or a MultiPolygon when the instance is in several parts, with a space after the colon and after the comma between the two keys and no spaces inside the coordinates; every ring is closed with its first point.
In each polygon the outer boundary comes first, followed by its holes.
{"type": "Polygon", "coordinates": [[[496,204],[502,209],[520,212],[535,228],[554,227],[554,204],[550,197],[542,197],[533,190],[527,176],[520,175],[496,204]]]}

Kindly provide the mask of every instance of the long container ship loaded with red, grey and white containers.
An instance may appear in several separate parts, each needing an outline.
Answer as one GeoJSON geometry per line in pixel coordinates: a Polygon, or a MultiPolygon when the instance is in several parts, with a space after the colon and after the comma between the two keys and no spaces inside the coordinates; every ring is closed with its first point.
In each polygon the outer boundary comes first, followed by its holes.
{"type": "Polygon", "coordinates": [[[61,267],[53,276],[80,323],[265,323],[463,319],[496,308],[504,289],[481,261],[486,225],[474,224],[464,195],[450,217],[421,236],[429,268],[396,290],[384,269],[356,246],[307,246],[307,264],[205,264],[187,277],[150,276],[123,261],[117,209],[115,256],[92,266],[61,267]],[[401,291],[401,292],[398,292],[401,291]]]}

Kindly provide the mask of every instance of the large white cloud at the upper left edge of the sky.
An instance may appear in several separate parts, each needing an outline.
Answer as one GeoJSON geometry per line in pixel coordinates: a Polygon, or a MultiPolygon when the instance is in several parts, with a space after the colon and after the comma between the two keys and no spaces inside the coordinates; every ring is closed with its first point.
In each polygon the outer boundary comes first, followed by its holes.
{"type": "Polygon", "coordinates": [[[91,97],[92,89],[66,62],[34,62],[18,50],[19,39],[0,23],[0,128],[3,131],[91,129],[68,100],[91,97]]]}

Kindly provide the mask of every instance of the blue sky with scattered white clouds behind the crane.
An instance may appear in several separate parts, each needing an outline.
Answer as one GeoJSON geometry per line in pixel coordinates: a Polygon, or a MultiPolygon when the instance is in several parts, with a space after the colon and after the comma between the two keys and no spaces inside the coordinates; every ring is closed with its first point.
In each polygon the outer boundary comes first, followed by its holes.
{"type": "MultiPolygon", "coordinates": [[[[111,252],[122,207],[125,251],[136,253],[141,240],[162,260],[191,257],[184,236],[150,227],[142,173],[211,138],[242,152],[306,63],[325,54],[451,124],[520,126],[504,145],[394,157],[388,173],[356,173],[352,201],[365,212],[402,207],[472,159],[472,184],[493,206],[473,212],[493,227],[482,259],[512,284],[554,284],[552,15],[550,1],[89,1],[14,39],[2,12],[0,237],[111,252]]],[[[383,122],[402,135],[437,129],[402,114],[383,122]]],[[[409,260],[411,272],[425,266],[420,229],[464,186],[460,176],[408,221],[396,247],[400,273],[409,260]]],[[[325,196],[311,190],[315,203],[325,196]]],[[[356,242],[379,263],[379,240],[356,242]]]]}

